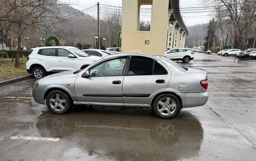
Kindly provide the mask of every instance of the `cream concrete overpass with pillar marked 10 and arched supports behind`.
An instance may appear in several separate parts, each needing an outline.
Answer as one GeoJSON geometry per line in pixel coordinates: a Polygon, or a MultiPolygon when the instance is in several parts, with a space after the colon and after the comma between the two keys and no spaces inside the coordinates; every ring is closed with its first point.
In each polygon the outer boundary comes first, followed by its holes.
{"type": "Polygon", "coordinates": [[[184,47],[188,34],[179,0],[122,0],[122,52],[163,55],[166,48],[184,47]],[[143,5],[152,6],[149,30],[140,26],[150,9],[143,5]]]}

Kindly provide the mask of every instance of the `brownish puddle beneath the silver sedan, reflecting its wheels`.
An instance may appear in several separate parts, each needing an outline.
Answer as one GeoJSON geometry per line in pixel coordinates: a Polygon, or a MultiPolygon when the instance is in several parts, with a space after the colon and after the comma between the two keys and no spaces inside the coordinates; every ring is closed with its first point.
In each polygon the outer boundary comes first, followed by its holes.
{"type": "Polygon", "coordinates": [[[41,114],[36,123],[40,135],[75,140],[88,153],[117,160],[175,160],[199,153],[203,129],[188,112],[159,119],[150,108],[77,108],[65,115],[41,114]]]}

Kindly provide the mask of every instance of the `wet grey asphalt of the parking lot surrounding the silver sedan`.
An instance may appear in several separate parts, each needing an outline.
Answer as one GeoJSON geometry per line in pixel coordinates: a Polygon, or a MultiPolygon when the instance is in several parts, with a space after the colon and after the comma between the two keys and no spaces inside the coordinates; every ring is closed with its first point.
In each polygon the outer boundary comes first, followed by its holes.
{"type": "Polygon", "coordinates": [[[31,98],[33,79],[2,86],[0,160],[255,160],[256,60],[195,53],[182,65],[208,72],[209,100],[173,119],[134,107],[53,114],[31,98]]]}

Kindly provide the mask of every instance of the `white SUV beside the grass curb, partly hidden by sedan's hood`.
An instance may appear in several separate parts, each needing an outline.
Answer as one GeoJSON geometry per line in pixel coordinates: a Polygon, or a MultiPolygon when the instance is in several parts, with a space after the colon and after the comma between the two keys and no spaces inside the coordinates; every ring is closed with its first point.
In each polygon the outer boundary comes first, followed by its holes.
{"type": "Polygon", "coordinates": [[[100,59],[89,56],[75,47],[38,47],[32,50],[26,63],[26,70],[32,73],[35,79],[40,79],[50,72],[85,68],[100,59]]]}

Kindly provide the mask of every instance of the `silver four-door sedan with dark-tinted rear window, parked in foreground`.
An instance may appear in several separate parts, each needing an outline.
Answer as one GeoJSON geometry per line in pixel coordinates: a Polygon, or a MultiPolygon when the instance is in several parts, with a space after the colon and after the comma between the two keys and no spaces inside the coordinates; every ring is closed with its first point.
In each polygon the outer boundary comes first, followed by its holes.
{"type": "Polygon", "coordinates": [[[208,100],[207,73],[149,54],[107,56],[84,70],[57,73],[37,80],[35,102],[53,113],[67,113],[74,104],[152,107],[160,118],[208,100]]]}

